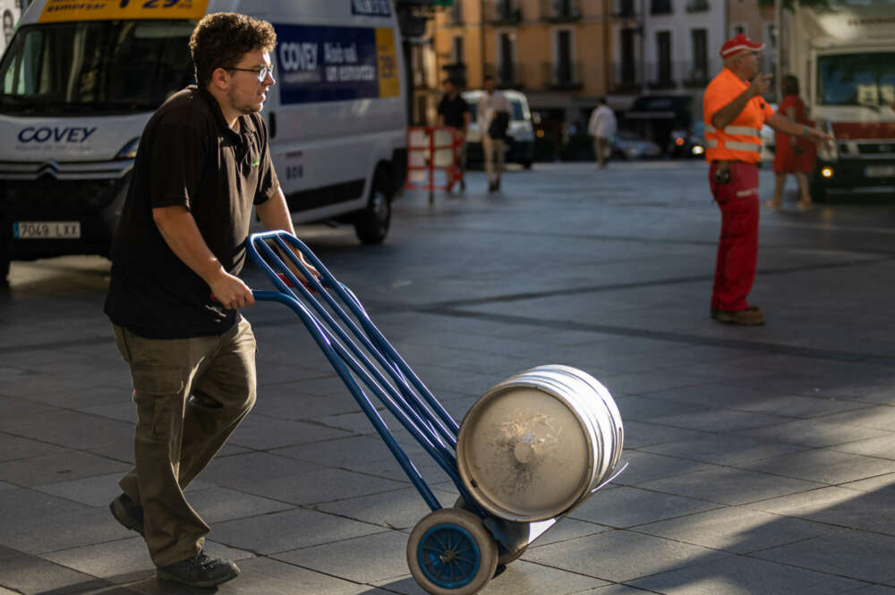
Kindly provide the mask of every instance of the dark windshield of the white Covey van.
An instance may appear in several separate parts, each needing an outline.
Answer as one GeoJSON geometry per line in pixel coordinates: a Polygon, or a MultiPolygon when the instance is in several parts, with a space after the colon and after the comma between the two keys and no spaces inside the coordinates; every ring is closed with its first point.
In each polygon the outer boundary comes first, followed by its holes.
{"type": "Polygon", "coordinates": [[[193,81],[193,21],[78,21],[22,27],[0,63],[0,113],[154,110],[193,81]]]}

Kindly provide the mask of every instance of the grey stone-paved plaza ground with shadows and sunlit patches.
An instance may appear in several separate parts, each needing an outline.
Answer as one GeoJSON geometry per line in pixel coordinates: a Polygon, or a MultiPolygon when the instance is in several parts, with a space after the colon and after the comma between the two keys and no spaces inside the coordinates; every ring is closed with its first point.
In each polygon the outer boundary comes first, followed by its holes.
{"type": "MultiPolygon", "coordinates": [[[[705,177],[697,162],[535,166],[486,194],[473,172],[463,198],[406,193],[380,247],[301,228],[458,421],[543,363],[618,402],[627,472],[482,593],[895,594],[895,206],[764,210],[752,298],[768,325],[722,326],[705,177]]],[[[98,258],[13,263],[0,290],[0,595],[211,592],[157,582],[107,510],[135,421],[107,274],[98,258]]],[[[243,571],[217,592],[422,593],[405,563],[422,498],[293,313],[245,314],[258,404],[189,489],[209,550],[243,571]]]]}

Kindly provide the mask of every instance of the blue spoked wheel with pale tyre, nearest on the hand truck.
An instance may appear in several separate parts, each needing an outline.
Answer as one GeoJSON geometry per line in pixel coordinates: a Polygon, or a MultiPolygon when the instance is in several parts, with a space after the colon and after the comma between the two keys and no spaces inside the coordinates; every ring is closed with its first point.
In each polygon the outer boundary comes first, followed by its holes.
{"type": "Polygon", "coordinates": [[[407,541],[413,579],[432,595],[472,595],[498,564],[497,542],[475,514],[443,508],[416,524],[407,541]]]}

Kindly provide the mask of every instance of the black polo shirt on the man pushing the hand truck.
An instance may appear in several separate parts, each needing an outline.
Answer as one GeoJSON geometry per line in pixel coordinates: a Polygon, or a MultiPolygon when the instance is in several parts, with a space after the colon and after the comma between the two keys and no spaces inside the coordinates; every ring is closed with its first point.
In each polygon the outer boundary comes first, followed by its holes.
{"type": "Polygon", "coordinates": [[[279,183],[258,114],[227,126],[217,100],[194,85],[169,98],[146,124],[112,244],[105,311],[118,326],[156,339],[225,333],[237,311],[213,302],[209,285],[175,255],[152,209],[188,208],[227,272],[245,260],[251,207],[279,183]]]}

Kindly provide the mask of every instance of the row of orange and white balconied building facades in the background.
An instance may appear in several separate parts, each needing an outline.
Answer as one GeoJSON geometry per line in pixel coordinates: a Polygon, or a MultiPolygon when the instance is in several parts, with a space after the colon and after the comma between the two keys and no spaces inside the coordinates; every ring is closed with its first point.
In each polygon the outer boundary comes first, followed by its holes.
{"type": "Polygon", "coordinates": [[[413,55],[414,119],[436,121],[443,79],[478,89],[490,74],[545,128],[582,130],[606,97],[622,128],[662,144],[702,118],[720,46],[738,32],[766,44],[773,72],[773,9],[758,0],[454,0],[413,55]]]}

